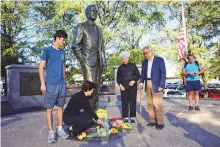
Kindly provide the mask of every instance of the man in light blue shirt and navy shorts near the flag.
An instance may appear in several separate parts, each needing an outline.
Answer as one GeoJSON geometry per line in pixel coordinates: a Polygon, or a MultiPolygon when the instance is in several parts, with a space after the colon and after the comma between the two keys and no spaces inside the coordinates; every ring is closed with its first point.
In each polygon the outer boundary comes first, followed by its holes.
{"type": "Polygon", "coordinates": [[[186,77],[186,91],[188,92],[189,107],[188,110],[192,111],[192,97],[195,98],[195,110],[200,111],[199,108],[199,91],[201,90],[201,83],[199,75],[204,73],[204,68],[195,61],[195,56],[189,54],[187,56],[188,62],[183,65],[182,74],[186,77]]]}

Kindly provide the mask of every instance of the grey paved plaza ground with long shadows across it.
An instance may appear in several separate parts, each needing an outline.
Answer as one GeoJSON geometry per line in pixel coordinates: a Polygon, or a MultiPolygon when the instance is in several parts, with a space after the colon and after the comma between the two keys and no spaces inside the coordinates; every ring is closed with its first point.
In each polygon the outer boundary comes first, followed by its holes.
{"type": "MultiPolygon", "coordinates": [[[[76,141],[59,138],[47,143],[45,112],[32,112],[3,117],[2,147],[220,147],[220,101],[201,100],[200,112],[189,112],[184,99],[164,99],[165,128],[158,131],[147,127],[148,113],[143,101],[142,126],[110,136],[108,140],[76,141]]],[[[139,120],[139,105],[137,105],[139,120]]],[[[120,106],[106,107],[109,117],[120,116],[120,106]]],[[[56,112],[54,112],[56,113],[56,112]]],[[[54,117],[56,122],[56,117],[54,117]]],[[[55,126],[55,123],[54,123],[55,126]]]]}

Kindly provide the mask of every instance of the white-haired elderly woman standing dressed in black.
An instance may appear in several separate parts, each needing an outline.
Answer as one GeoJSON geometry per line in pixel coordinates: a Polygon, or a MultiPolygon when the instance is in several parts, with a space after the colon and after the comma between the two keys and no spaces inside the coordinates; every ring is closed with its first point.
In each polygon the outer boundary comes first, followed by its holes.
{"type": "Polygon", "coordinates": [[[122,64],[118,68],[117,83],[121,91],[122,117],[124,117],[124,122],[129,122],[128,110],[130,108],[130,122],[135,123],[137,81],[140,78],[140,72],[134,63],[129,62],[129,52],[123,51],[119,56],[122,60],[122,64]],[[130,105],[130,107],[128,107],[128,105],[130,105]]]}

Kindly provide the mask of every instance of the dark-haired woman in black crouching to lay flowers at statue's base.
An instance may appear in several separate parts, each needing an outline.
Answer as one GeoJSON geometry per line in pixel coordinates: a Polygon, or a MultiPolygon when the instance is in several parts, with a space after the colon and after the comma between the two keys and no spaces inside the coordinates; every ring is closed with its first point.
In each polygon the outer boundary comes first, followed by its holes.
{"type": "Polygon", "coordinates": [[[88,129],[94,122],[104,126],[104,123],[98,119],[96,113],[89,105],[88,98],[96,89],[96,84],[90,81],[85,81],[82,85],[82,90],[74,94],[66,109],[64,110],[64,123],[72,126],[69,132],[75,135],[78,139],[82,139],[82,132],[88,129]],[[83,109],[87,113],[86,116],[80,115],[80,110],[83,109]]]}

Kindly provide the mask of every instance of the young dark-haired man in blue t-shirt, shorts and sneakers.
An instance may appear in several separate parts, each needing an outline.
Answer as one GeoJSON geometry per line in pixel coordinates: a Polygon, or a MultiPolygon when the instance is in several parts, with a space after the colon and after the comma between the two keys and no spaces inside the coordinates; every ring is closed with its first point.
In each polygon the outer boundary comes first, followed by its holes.
{"type": "Polygon", "coordinates": [[[44,106],[47,108],[46,119],[49,129],[48,143],[56,142],[56,133],[61,138],[67,138],[69,135],[63,130],[63,106],[66,99],[65,82],[65,51],[60,49],[64,46],[67,33],[63,30],[56,31],[54,35],[53,46],[44,49],[39,65],[39,74],[41,81],[41,91],[45,94],[44,106]],[[44,75],[44,66],[46,65],[46,80],[44,75]],[[58,127],[53,131],[52,111],[56,105],[58,108],[58,127]]]}

